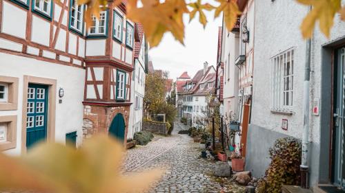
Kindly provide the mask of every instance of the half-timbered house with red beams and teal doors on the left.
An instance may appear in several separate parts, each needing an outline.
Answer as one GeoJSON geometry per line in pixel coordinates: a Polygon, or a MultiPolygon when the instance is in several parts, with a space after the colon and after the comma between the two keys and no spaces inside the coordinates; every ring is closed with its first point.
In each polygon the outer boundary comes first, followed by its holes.
{"type": "MultiPolygon", "coordinates": [[[[126,137],[135,23],[110,1],[86,29],[75,0],[0,0],[0,150],[126,137]]],[[[126,140],[124,140],[126,141],[126,140]]]]}

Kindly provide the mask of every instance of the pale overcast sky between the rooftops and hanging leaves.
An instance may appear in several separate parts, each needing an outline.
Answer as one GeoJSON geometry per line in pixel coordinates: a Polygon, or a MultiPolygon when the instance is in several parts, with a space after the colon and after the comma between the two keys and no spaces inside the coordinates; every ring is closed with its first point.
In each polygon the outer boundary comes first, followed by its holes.
{"type": "Polygon", "coordinates": [[[170,78],[176,80],[184,71],[188,71],[193,78],[205,61],[215,66],[221,16],[214,19],[214,12],[206,12],[206,16],[208,23],[205,30],[199,23],[199,14],[191,23],[188,23],[189,16],[185,16],[185,46],[175,41],[170,32],[166,33],[161,43],[149,51],[153,67],[169,71],[170,78]]]}

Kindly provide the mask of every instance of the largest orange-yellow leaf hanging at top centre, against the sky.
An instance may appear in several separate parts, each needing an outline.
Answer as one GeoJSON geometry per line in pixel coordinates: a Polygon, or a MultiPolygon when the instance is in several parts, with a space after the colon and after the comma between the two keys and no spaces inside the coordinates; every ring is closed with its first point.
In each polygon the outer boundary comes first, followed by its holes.
{"type": "Polygon", "coordinates": [[[143,6],[137,8],[135,1],[128,6],[128,18],[141,23],[150,47],[155,47],[161,41],[165,32],[171,32],[183,44],[184,22],[183,14],[188,12],[184,0],[166,0],[159,3],[157,0],[141,1],[143,6]]]}

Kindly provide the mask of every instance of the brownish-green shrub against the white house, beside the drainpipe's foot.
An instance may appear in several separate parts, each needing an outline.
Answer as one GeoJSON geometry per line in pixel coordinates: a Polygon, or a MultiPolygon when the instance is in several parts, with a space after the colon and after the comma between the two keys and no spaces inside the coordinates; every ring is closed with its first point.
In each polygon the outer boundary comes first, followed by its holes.
{"type": "Polygon", "coordinates": [[[277,139],[269,152],[272,161],[255,192],[280,193],[282,185],[299,185],[302,157],[300,142],[292,137],[277,139]]]}

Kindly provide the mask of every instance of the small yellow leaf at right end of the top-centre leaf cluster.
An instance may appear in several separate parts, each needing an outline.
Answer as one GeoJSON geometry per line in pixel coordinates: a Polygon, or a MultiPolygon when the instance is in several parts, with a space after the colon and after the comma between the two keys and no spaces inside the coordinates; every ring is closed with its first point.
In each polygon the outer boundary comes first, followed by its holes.
{"type": "Polygon", "coordinates": [[[224,14],[224,21],[228,31],[233,30],[237,21],[237,16],[241,14],[236,0],[216,0],[220,5],[215,10],[215,17],[218,17],[221,12],[224,14]]]}

